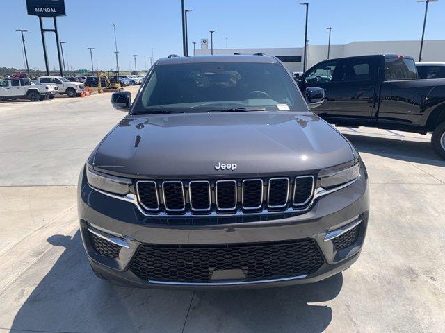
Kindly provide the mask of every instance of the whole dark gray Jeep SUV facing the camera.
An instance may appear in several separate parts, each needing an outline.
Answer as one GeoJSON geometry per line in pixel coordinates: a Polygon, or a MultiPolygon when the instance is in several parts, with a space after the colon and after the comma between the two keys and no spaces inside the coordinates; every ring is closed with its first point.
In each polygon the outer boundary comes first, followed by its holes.
{"type": "MultiPolygon", "coordinates": [[[[369,191],[356,149],[309,110],[271,56],[157,61],[79,178],[83,245],[99,278],[139,287],[315,282],[348,268],[369,191]]],[[[309,105],[309,108],[308,108],[309,105]]]]}

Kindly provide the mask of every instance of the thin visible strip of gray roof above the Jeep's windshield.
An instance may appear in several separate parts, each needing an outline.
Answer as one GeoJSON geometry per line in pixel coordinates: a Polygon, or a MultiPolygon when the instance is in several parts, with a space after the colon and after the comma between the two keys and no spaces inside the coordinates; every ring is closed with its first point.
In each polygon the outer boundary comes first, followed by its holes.
{"type": "Polygon", "coordinates": [[[156,62],[156,65],[170,65],[170,64],[195,64],[200,62],[261,62],[274,63],[279,62],[273,56],[253,56],[250,54],[237,55],[218,55],[218,56],[193,56],[193,57],[179,57],[172,56],[170,58],[161,58],[156,62]]]}

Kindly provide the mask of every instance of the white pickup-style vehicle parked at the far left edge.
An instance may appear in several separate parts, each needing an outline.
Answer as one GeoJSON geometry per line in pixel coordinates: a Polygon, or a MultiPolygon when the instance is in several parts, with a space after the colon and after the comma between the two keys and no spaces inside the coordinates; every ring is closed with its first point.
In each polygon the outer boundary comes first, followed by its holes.
{"type": "Polygon", "coordinates": [[[32,85],[29,78],[0,80],[0,100],[29,99],[35,102],[43,101],[49,94],[49,87],[32,85]]]}

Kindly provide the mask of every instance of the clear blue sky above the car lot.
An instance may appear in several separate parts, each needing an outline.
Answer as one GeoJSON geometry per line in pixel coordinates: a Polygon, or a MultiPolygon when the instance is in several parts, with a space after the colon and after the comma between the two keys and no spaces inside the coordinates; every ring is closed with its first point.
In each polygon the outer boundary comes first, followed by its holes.
{"type": "MultiPolygon", "coordinates": [[[[326,28],[332,26],[331,44],[369,40],[420,40],[425,3],[416,0],[306,0],[309,2],[309,44],[327,44],[326,28]]],[[[222,49],[302,46],[305,6],[301,0],[186,0],[188,41],[200,45],[214,30],[213,47],[222,49]]],[[[67,15],[58,17],[59,39],[68,68],[115,68],[113,26],[116,24],[121,69],[149,67],[154,59],[170,53],[181,55],[180,0],[65,0],[67,15]],[[145,58],[144,58],[145,57],[145,58]]],[[[445,40],[445,0],[430,3],[426,40],[445,40]]],[[[44,69],[38,17],[26,14],[25,0],[0,0],[0,67],[24,68],[21,37],[15,29],[28,29],[26,51],[29,67],[44,69]]],[[[52,19],[45,19],[52,28],[52,19]]],[[[47,33],[49,67],[58,66],[56,39],[47,33]]]]}

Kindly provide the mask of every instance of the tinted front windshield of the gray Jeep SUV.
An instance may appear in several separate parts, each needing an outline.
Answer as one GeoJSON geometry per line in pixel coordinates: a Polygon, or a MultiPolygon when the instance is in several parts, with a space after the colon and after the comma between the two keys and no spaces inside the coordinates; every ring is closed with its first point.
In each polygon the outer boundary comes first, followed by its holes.
{"type": "Polygon", "coordinates": [[[202,62],[154,67],[132,113],[240,108],[307,111],[298,88],[280,64],[202,62]]]}

